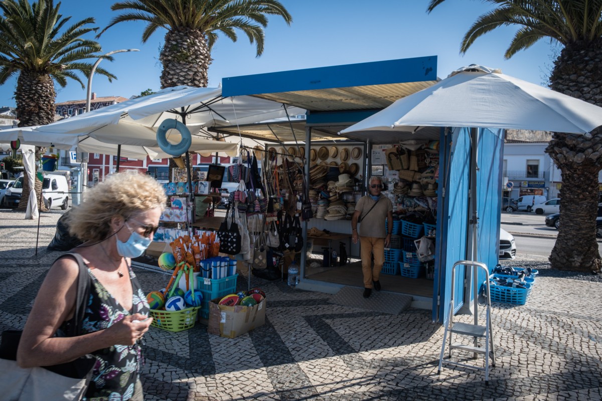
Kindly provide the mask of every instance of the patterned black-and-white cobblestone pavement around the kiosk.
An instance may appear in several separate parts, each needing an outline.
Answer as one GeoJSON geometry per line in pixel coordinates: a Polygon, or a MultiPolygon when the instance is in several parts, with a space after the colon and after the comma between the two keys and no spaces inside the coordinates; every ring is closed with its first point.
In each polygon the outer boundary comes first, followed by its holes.
{"type": "MultiPolygon", "coordinates": [[[[60,214],[43,213],[36,256],[37,221],[0,210],[0,329],[24,325],[59,255],[46,245],[60,214]]],[[[246,272],[238,273],[244,289],[246,272]]],[[[147,291],[167,281],[157,272],[136,274],[147,291]]],[[[252,286],[267,293],[266,322],[240,337],[207,334],[199,323],[178,333],[151,328],[147,400],[602,399],[601,283],[544,275],[526,305],[495,304],[497,365],[489,385],[474,370],[444,366],[437,375],[444,328],[431,323],[430,311],[392,315],[330,304],[332,295],[281,283],[252,278],[252,286]]]]}

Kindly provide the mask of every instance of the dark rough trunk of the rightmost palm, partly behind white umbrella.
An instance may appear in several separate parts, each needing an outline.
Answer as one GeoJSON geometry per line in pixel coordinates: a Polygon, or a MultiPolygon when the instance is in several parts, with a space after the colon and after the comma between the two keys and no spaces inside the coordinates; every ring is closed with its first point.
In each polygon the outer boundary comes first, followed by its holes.
{"type": "MultiPolygon", "coordinates": [[[[557,60],[551,88],[602,106],[602,41],[571,43],[557,60]]],[[[600,272],[602,259],[595,235],[598,173],[602,168],[602,132],[554,133],[545,152],[562,173],[560,228],[550,255],[553,269],[600,272]]]]}

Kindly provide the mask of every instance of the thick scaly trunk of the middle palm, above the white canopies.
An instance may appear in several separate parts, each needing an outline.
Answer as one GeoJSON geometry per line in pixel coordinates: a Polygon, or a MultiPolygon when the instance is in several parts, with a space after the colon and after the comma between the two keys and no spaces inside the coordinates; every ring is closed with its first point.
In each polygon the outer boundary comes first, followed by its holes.
{"type": "Polygon", "coordinates": [[[178,85],[207,86],[211,52],[203,32],[184,28],[167,31],[160,60],[163,64],[161,89],[178,85]]]}

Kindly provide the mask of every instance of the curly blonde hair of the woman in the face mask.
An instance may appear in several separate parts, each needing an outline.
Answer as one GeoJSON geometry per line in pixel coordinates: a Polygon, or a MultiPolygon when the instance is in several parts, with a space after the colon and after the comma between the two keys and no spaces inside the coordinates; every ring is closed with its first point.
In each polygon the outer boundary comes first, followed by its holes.
{"type": "Polygon", "coordinates": [[[83,241],[100,241],[110,234],[114,216],[128,219],[135,213],[165,207],[163,186],[150,176],[111,174],[85,193],[85,201],[66,216],[69,233],[83,241]]]}

